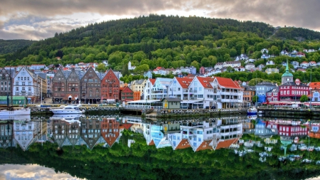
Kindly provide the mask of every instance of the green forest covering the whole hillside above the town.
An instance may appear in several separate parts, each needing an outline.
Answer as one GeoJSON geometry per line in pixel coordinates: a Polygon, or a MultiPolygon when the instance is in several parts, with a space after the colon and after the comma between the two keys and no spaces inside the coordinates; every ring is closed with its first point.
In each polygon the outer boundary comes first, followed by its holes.
{"type": "MultiPolygon", "coordinates": [[[[201,66],[212,67],[218,62],[234,60],[241,53],[257,59],[255,65],[260,65],[267,62],[266,59],[260,59],[261,50],[267,48],[270,55],[275,55],[272,60],[276,65],[266,68],[279,68],[279,75],[275,75],[277,78],[274,79],[274,75],[270,78],[279,81],[284,73],[281,63],[287,58],[299,63],[304,60],[320,60],[320,53],[317,51],[306,53],[303,58],[279,56],[279,53],[282,50],[318,50],[319,37],[320,33],[316,31],[274,28],[261,22],[151,14],[94,23],[66,33],[55,33],[52,38],[37,41],[14,53],[0,55],[0,66],[34,63],[65,65],[108,60],[109,68],[125,70],[125,66],[131,61],[132,65],[137,66],[135,73],[141,74],[157,66],[178,68],[193,65],[197,69],[201,66]],[[60,60],[56,57],[60,57],[60,60]]],[[[242,62],[242,65],[245,63],[242,62]]],[[[242,80],[251,80],[253,75],[250,74],[245,76],[251,78],[242,80]]],[[[235,80],[240,77],[242,76],[235,77],[235,80]]],[[[303,79],[306,77],[302,77],[303,79]]],[[[320,80],[320,77],[316,80],[320,80]]]]}

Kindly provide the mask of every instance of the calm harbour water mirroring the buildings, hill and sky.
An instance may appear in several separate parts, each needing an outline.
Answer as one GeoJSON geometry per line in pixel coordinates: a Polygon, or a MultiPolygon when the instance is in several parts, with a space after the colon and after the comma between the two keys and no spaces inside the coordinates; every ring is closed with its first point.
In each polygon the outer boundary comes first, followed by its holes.
{"type": "Polygon", "coordinates": [[[317,179],[320,141],[306,136],[314,123],[23,117],[0,123],[0,179],[317,179]]]}

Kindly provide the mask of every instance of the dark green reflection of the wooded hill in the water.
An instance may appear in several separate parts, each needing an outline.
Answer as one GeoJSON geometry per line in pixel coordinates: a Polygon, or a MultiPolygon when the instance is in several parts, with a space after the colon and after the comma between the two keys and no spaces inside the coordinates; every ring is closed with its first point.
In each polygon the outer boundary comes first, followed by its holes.
{"type": "MultiPolygon", "coordinates": [[[[57,144],[48,142],[43,147],[32,144],[27,152],[10,147],[0,149],[0,157],[10,153],[11,149],[28,163],[86,179],[306,179],[320,174],[319,166],[279,162],[276,156],[262,163],[258,161],[257,153],[238,157],[230,149],[196,153],[191,148],[176,151],[171,147],[156,149],[146,145],[142,134],[132,134],[127,130],[119,144],[114,143],[111,148],[97,145],[90,150],[86,146],[65,146],[59,156],[57,147],[57,144]],[[127,139],[134,139],[131,148],[124,142],[127,139]]],[[[4,163],[8,162],[9,159],[4,163]]]]}

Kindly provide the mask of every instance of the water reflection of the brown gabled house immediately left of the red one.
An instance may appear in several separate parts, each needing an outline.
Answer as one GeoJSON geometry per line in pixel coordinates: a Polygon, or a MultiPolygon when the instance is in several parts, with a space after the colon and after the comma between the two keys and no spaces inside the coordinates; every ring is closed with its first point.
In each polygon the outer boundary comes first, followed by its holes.
{"type": "Polygon", "coordinates": [[[81,137],[87,143],[89,149],[95,147],[97,139],[100,138],[100,120],[89,119],[81,121],[81,137]]]}

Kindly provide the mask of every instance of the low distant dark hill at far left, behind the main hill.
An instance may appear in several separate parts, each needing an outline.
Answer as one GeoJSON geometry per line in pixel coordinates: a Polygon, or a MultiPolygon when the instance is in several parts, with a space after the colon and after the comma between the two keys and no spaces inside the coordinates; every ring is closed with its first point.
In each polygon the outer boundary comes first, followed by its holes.
{"type": "Polygon", "coordinates": [[[36,41],[29,41],[29,40],[23,40],[23,39],[17,39],[17,40],[0,39],[0,54],[14,53],[18,49],[21,49],[25,46],[30,46],[34,42],[36,41]]]}

